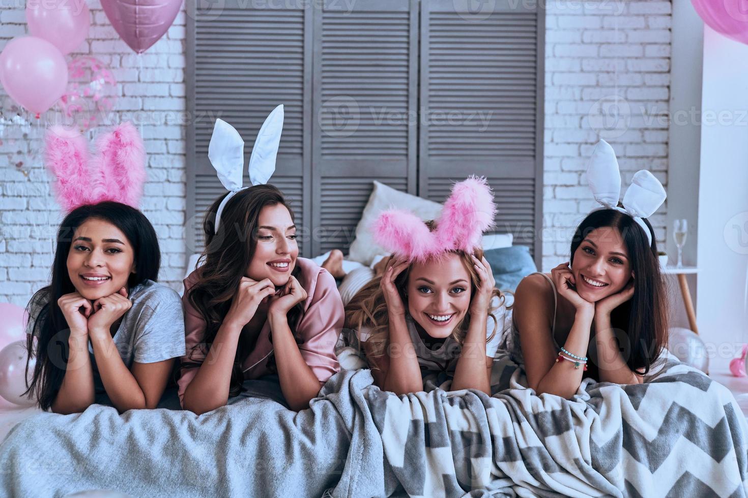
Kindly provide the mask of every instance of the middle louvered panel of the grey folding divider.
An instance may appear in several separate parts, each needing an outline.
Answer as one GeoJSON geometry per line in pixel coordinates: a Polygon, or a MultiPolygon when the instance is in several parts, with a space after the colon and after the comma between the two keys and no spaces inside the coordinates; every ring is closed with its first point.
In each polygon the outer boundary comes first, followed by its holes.
{"type": "Polygon", "coordinates": [[[373,179],[416,190],[417,2],[315,15],[312,249],[347,252],[373,179]]]}

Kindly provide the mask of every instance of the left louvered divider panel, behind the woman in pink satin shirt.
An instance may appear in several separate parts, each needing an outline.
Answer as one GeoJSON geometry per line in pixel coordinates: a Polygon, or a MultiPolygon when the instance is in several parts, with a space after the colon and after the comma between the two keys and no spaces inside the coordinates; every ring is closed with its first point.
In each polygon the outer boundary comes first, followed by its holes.
{"type": "MultiPolygon", "coordinates": [[[[187,84],[188,109],[194,110],[195,119],[188,125],[190,220],[202,220],[211,199],[224,192],[207,158],[215,119],[233,125],[245,140],[246,168],[260,126],[283,104],[283,133],[271,183],[295,197],[296,224],[300,233],[310,231],[310,186],[302,187],[311,164],[311,13],[306,7],[301,0],[227,0],[218,15],[212,15],[191,6],[187,84]]],[[[188,231],[188,243],[191,237],[194,249],[201,250],[199,225],[193,223],[188,231]]]]}

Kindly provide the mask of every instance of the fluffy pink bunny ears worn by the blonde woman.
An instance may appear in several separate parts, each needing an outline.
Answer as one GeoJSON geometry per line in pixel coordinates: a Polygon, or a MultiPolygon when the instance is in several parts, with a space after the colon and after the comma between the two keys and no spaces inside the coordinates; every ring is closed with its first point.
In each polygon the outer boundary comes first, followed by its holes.
{"type": "Polygon", "coordinates": [[[373,222],[376,242],[408,261],[440,258],[447,251],[472,252],[480,246],[482,234],[494,226],[496,205],[485,178],[470,176],[456,183],[435,231],[410,211],[383,211],[373,222]]]}

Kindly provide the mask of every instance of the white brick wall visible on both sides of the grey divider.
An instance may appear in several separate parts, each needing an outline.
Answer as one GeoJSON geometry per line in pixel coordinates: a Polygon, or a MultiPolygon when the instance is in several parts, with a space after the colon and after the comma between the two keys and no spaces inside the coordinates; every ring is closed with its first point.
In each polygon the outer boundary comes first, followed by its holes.
{"type": "MultiPolygon", "coordinates": [[[[619,156],[624,186],[637,169],[650,169],[666,185],[669,109],[670,1],[608,0],[539,2],[547,5],[545,88],[545,186],[543,269],[568,260],[571,231],[593,206],[584,169],[602,131],[619,156]],[[616,93],[617,84],[617,93],[616,93]],[[625,103],[628,125],[601,126],[602,103],[625,103]],[[611,134],[615,136],[610,136],[611,134]]],[[[97,0],[90,0],[91,33],[81,54],[104,60],[116,73],[117,110],[145,111],[148,183],[141,203],[162,244],[160,279],[179,289],[184,271],[185,111],[184,13],[147,54],[119,40],[97,0]]],[[[21,7],[0,7],[0,49],[25,32],[21,7]]],[[[603,122],[604,124],[604,122],[603,122]]],[[[25,305],[49,278],[54,230],[61,215],[49,191],[38,140],[3,138],[0,146],[0,302],[25,305]],[[16,170],[30,163],[28,177],[16,170]]],[[[666,235],[666,205],[652,222],[657,241],[666,235]]]]}

